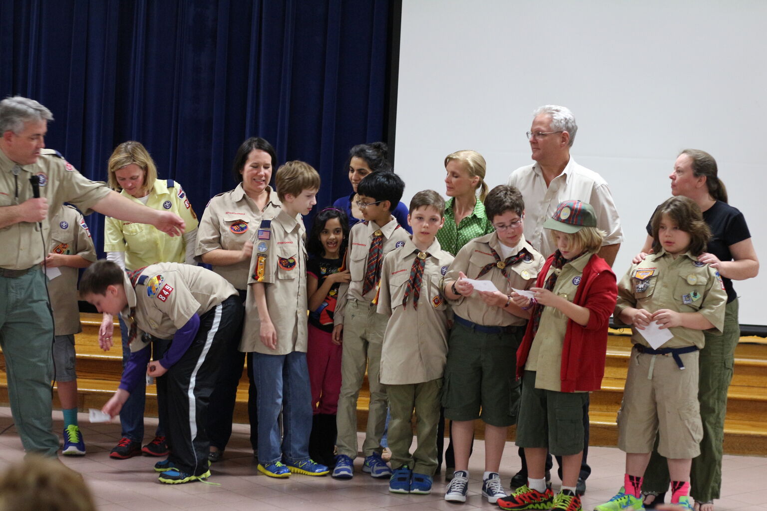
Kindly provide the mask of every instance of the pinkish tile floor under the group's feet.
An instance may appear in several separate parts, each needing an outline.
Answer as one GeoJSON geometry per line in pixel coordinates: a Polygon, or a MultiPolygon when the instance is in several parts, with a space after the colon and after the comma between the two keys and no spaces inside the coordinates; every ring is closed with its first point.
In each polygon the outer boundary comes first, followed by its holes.
{"type": "MultiPolygon", "coordinates": [[[[211,483],[186,483],[177,486],[157,482],[152,470],[156,458],[133,457],[111,460],[109,450],[120,437],[119,424],[88,424],[87,414],[80,415],[88,454],[85,457],[62,457],[64,464],[81,472],[94,493],[100,511],[155,509],[216,509],[221,511],[411,511],[415,509],[498,509],[482,499],[482,457],[484,443],[476,441],[472,455],[471,484],[466,504],[443,500],[445,482],[436,477],[431,495],[400,495],[388,492],[387,482],[374,480],[359,472],[353,480],[337,481],[330,477],[294,475],[289,479],[272,479],[257,472],[249,449],[248,428],[235,424],[234,434],[224,458],[212,467],[211,483]],[[219,486],[220,485],[220,486],[219,486]]],[[[12,424],[11,412],[0,407],[0,431],[12,424]]],[[[61,429],[61,413],[54,412],[54,425],[61,429]]],[[[153,431],[155,419],[146,420],[146,431],[153,431]]],[[[0,470],[23,456],[21,441],[15,428],[0,434],[0,470]]],[[[589,461],[593,472],[584,495],[584,509],[594,509],[614,495],[621,486],[624,457],[611,447],[592,447],[589,461]]],[[[508,483],[518,470],[519,460],[513,444],[507,444],[501,464],[501,477],[508,483]]],[[[727,456],[723,464],[723,498],[716,502],[717,511],[767,510],[761,485],[767,480],[767,457],[727,456]]],[[[555,490],[559,486],[554,481],[555,490]]]]}

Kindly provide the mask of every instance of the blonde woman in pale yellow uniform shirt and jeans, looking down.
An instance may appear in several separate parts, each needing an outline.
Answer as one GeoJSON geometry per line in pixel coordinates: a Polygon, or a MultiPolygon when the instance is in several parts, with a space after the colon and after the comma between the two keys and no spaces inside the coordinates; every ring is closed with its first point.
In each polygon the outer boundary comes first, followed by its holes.
{"type": "MultiPolygon", "coordinates": [[[[104,252],[107,253],[107,260],[119,264],[123,270],[137,270],[160,262],[196,264],[194,249],[198,222],[189,198],[180,183],[173,179],[157,179],[156,165],[141,142],[129,140],[114,149],[109,159],[107,183],[110,188],[132,201],[160,211],[172,211],[186,221],[183,237],[170,237],[152,225],[107,217],[104,220],[104,252]]],[[[99,342],[104,349],[112,346],[113,326],[113,317],[104,314],[99,329],[99,342]]],[[[120,336],[125,365],[130,357],[130,348],[127,326],[122,317],[120,336]]],[[[123,431],[110,457],[124,460],[142,451],[150,456],[165,456],[168,453],[162,424],[158,425],[153,441],[141,447],[145,399],[144,389],[137,388],[123,405],[120,411],[123,431]]]]}

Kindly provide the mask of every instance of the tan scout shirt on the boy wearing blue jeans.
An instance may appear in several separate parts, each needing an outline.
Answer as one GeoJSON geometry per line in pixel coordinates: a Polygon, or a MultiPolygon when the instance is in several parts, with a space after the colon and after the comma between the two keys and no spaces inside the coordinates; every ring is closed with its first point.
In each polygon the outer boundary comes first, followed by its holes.
{"type": "Polygon", "coordinates": [[[269,230],[258,228],[258,246],[253,251],[248,284],[266,284],[266,307],[277,331],[277,348],[268,349],[258,337],[261,320],[258,318],[255,293],[249,289],[245,298],[247,320],[239,346],[241,352],[265,355],[306,352],[308,305],[305,238],[303,221],[291,217],[283,209],[272,218],[269,230]]]}

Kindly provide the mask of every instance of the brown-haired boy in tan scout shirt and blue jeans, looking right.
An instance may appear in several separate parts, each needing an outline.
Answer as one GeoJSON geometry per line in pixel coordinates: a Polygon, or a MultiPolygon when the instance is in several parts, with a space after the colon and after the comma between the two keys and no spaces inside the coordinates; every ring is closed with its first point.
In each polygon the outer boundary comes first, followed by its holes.
{"type": "Polygon", "coordinates": [[[311,386],[306,365],[308,215],[320,175],[304,162],[287,162],[275,179],[280,212],[262,220],[250,268],[240,350],[253,352],[258,388],[258,470],[269,477],[291,473],[324,476],[328,467],[309,457],[311,386]],[[285,435],[280,443],[280,424],[285,435]]]}

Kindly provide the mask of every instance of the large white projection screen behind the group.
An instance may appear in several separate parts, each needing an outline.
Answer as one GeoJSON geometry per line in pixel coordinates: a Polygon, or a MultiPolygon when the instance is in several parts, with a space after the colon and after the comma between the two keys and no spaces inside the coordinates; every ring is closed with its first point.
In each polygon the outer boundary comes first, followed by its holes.
{"type": "MultiPolygon", "coordinates": [[[[710,152],[767,264],[767,2],[403,0],[394,167],[403,201],[444,195],[444,157],[476,149],[486,181],[528,165],[532,110],[568,106],[571,155],[610,183],[616,274],[670,196],[681,149],[710,152]]],[[[767,325],[764,275],[736,282],[740,323],[767,325]]]]}

